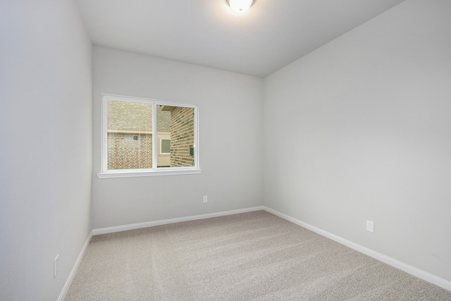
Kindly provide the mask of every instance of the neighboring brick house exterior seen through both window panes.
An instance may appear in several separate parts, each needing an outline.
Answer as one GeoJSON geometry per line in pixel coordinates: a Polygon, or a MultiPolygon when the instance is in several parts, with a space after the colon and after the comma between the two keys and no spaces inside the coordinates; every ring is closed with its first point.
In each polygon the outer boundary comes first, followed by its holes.
{"type": "MultiPolygon", "coordinates": [[[[152,168],[152,104],[108,102],[108,169],[152,168]]],[[[157,166],[193,166],[194,109],[157,106],[157,166]]]]}

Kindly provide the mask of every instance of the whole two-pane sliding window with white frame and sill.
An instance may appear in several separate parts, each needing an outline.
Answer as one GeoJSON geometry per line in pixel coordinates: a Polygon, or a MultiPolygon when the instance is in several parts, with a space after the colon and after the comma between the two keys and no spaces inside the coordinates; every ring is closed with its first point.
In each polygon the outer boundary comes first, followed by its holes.
{"type": "Polygon", "coordinates": [[[198,156],[196,106],[102,97],[99,178],[200,173],[198,156]]]}

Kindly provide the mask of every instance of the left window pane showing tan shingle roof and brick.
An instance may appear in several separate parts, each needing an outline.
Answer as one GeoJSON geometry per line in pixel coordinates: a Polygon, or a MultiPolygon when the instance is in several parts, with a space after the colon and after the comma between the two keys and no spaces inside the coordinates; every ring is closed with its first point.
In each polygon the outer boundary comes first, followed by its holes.
{"type": "Polygon", "coordinates": [[[107,102],[108,169],[152,168],[152,104],[107,102]]]}

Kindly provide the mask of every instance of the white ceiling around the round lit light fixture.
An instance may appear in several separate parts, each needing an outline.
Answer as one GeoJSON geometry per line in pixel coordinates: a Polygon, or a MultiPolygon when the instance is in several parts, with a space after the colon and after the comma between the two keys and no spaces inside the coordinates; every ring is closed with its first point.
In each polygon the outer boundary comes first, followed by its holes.
{"type": "Polygon", "coordinates": [[[265,77],[404,0],[78,0],[96,45],[265,77]]]}

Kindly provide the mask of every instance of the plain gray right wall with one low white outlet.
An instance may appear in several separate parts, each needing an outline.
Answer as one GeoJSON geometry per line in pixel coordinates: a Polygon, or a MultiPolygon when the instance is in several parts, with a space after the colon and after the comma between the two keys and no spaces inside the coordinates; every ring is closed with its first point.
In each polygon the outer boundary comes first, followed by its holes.
{"type": "Polygon", "coordinates": [[[264,204],[447,281],[450,12],[404,1],[264,81],[264,204]]]}

